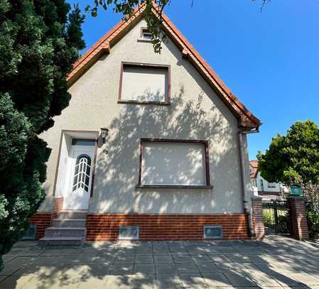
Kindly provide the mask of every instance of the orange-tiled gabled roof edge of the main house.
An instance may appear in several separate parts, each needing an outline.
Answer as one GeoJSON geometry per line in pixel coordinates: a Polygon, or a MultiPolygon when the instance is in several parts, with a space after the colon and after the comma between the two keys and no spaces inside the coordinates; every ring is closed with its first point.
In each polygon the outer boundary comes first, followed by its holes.
{"type": "MultiPolygon", "coordinates": [[[[94,62],[103,53],[112,53],[112,46],[114,46],[139,20],[143,17],[145,4],[142,4],[135,9],[134,13],[126,20],[121,20],[114,28],[112,28],[107,34],[102,36],[97,43],[87,50],[82,57],[75,62],[73,69],[69,75],[67,75],[67,83],[69,87],[87,71],[94,62]]],[[[153,4],[153,13],[159,17],[158,8],[156,4],[153,4]]],[[[194,67],[200,72],[202,77],[210,84],[215,93],[222,99],[222,101],[229,107],[232,113],[239,119],[239,126],[244,130],[258,129],[261,125],[261,121],[254,116],[239,99],[232,94],[232,92],[226,87],[224,82],[220,80],[210,65],[200,56],[195,48],[190,45],[188,40],[178,31],[169,18],[162,13],[163,29],[175,45],[180,49],[184,58],[187,58],[194,67]]]]}

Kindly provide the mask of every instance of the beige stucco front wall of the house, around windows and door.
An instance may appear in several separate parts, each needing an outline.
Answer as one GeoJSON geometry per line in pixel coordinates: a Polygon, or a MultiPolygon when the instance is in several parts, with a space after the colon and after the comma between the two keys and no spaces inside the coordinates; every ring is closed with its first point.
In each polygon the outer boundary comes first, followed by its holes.
{"type": "Polygon", "coordinates": [[[171,40],[161,54],[151,43],[139,42],[141,26],[144,21],[70,87],[70,106],[43,133],[53,151],[44,184],[48,200],[41,210],[50,207],[61,130],[107,127],[107,143],[97,149],[90,212],[242,212],[237,119],[171,40]],[[171,106],[118,104],[121,61],[171,65],[171,106]],[[213,189],[137,190],[140,138],[209,141],[213,189]]]}

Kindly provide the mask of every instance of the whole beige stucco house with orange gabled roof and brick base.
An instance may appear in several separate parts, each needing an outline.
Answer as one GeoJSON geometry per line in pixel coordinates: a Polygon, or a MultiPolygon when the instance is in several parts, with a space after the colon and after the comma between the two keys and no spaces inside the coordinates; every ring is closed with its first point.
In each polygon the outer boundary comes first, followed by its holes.
{"type": "Polygon", "coordinates": [[[45,244],[250,237],[247,133],[261,122],[165,15],[163,30],[157,54],[141,6],[68,75],[70,105],[41,136],[52,153],[31,222],[45,244]]]}

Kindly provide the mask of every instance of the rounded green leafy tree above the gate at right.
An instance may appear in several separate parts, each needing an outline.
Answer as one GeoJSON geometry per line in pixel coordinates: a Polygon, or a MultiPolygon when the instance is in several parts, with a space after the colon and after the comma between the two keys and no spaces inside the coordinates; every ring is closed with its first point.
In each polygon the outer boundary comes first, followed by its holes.
{"type": "Polygon", "coordinates": [[[266,153],[258,153],[261,176],[269,182],[319,183],[319,127],[297,121],[286,136],[272,139],[266,153]]]}

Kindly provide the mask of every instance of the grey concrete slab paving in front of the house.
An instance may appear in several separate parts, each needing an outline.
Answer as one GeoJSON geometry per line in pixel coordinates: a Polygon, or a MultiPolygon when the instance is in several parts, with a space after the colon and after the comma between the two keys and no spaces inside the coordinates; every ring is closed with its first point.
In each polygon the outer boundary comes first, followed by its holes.
{"type": "Polygon", "coordinates": [[[316,288],[319,242],[103,242],[40,248],[16,244],[4,256],[0,288],[316,288]]]}

